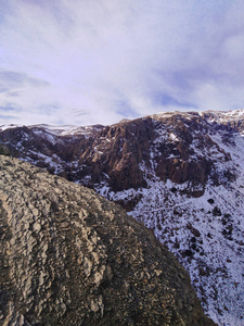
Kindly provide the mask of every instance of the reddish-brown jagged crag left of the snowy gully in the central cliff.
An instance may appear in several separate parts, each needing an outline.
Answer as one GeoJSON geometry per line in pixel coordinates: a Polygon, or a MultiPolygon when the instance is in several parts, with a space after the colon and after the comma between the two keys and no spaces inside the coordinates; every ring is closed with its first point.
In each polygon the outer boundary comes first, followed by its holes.
{"type": "Polygon", "coordinates": [[[80,179],[90,175],[92,187],[107,175],[114,191],[145,187],[139,164],[149,156],[152,133],[152,120],[104,127],[79,158],[79,165],[84,166],[80,179]]]}

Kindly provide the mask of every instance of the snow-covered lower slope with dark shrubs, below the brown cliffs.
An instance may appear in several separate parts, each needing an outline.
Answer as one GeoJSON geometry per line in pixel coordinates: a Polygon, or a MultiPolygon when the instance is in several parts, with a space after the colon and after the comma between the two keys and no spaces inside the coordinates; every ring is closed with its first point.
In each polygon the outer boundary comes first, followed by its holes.
{"type": "Polygon", "coordinates": [[[188,183],[155,179],[139,190],[101,192],[115,201],[140,196],[130,214],[184,265],[206,312],[219,325],[243,325],[243,174],[230,187],[209,183],[200,198],[184,195],[188,183]]]}

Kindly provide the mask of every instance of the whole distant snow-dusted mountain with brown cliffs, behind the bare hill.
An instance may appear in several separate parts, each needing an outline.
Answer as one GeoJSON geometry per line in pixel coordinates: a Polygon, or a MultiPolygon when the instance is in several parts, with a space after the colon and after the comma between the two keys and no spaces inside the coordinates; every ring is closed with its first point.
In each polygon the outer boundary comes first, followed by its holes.
{"type": "Polygon", "coordinates": [[[244,111],[112,126],[2,126],[0,150],[88,186],[153,229],[219,325],[244,325],[244,111]]]}

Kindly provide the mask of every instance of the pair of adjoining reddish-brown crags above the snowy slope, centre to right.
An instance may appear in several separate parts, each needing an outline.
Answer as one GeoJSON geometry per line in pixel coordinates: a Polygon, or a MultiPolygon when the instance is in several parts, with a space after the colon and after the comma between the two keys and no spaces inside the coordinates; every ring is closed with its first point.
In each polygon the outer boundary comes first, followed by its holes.
{"type": "MultiPolygon", "coordinates": [[[[200,154],[203,148],[216,146],[207,133],[206,122],[201,116],[192,114],[189,120],[176,113],[104,127],[80,155],[82,170],[79,175],[74,174],[74,180],[91,188],[105,183],[112,191],[144,188],[147,185],[141,168],[144,164],[155,168],[160,180],[190,181],[197,189],[201,185],[203,193],[215,161],[200,154]],[[88,183],[87,175],[90,175],[88,183]]],[[[197,193],[198,190],[191,195],[197,193]]]]}

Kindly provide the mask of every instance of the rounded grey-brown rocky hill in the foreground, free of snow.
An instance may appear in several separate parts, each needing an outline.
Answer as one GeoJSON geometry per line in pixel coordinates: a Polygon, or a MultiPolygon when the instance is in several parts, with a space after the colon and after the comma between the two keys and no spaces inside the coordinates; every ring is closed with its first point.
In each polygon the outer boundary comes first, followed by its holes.
{"type": "Polygon", "coordinates": [[[215,325],[190,277],[120,206],[0,155],[1,325],[215,325]]]}

